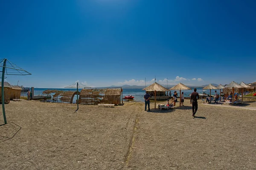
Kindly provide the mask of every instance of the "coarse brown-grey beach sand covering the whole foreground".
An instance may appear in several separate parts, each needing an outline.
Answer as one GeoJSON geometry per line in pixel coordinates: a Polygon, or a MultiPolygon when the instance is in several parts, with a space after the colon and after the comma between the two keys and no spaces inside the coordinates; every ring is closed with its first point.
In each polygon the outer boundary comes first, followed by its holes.
{"type": "MultiPolygon", "coordinates": [[[[165,104],[165,102],[160,102],[165,104]]],[[[177,103],[177,105],[179,105],[177,103]]],[[[144,103],[13,102],[0,117],[0,169],[254,169],[256,111],[198,104],[144,111],[144,103]]]]}

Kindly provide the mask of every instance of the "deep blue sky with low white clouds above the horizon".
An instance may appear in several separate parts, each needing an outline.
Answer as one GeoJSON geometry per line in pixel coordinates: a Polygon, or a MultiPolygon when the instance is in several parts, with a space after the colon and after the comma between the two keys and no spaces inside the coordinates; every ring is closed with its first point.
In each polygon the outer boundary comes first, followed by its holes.
{"type": "Polygon", "coordinates": [[[32,74],[6,81],[38,88],[256,82],[255,8],[253,0],[1,0],[0,58],[32,74]]]}

